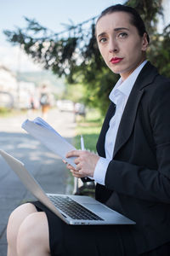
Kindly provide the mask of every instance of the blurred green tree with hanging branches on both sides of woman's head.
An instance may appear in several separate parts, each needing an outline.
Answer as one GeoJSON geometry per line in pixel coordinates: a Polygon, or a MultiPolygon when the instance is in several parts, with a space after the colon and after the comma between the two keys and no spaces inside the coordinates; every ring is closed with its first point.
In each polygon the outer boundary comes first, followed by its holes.
{"type": "MultiPolygon", "coordinates": [[[[151,43],[150,61],[160,73],[170,76],[170,26],[162,34],[156,31],[158,15],[162,15],[161,0],[129,0],[126,2],[143,17],[151,43]],[[164,63],[162,67],[162,63],[164,63]]],[[[64,32],[54,33],[36,20],[26,18],[26,28],[5,31],[8,41],[20,44],[34,61],[51,69],[58,76],[65,76],[68,84],[83,84],[83,101],[105,113],[108,95],[116,83],[117,75],[111,73],[99,55],[95,40],[95,21],[86,20],[77,26],[67,25],[64,32]]]]}

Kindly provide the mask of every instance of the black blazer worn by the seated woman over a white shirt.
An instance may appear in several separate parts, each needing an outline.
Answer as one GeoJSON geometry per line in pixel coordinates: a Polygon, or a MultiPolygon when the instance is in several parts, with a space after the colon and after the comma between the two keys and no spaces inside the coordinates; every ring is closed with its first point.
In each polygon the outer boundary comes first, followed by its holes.
{"type": "MultiPolygon", "coordinates": [[[[111,103],[97,143],[105,157],[111,103]]],[[[96,199],[133,219],[138,253],[170,241],[170,80],[147,62],[133,85],[117,132],[105,186],[96,199]]]]}

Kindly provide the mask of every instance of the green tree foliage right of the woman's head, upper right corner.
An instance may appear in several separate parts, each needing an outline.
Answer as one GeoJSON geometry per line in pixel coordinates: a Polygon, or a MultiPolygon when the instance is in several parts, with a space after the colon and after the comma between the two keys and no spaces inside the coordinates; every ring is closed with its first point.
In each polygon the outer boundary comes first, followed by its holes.
{"type": "Polygon", "coordinates": [[[137,9],[144,20],[146,30],[150,35],[148,59],[154,63],[162,75],[170,78],[170,24],[159,34],[157,32],[158,17],[163,17],[162,0],[130,0],[127,5],[137,9]],[[163,63],[163,65],[162,65],[163,63]]]}

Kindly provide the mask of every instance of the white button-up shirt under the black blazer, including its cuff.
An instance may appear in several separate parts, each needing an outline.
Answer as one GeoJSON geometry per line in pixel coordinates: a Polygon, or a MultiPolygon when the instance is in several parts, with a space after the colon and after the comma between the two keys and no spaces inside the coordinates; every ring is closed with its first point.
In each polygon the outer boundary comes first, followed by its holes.
{"type": "Polygon", "coordinates": [[[139,67],[137,67],[133,73],[131,73],[127,79],[122,81],[120,78],[113,90],[111,90],[111,94],[109,96],[111,102],[116,104],[116,113],[110,120],[109,129],[105,135],[105,158],[100,157],[97,165],[94,170],[94,181],[105,185],[105,173],[107,171],[107,167],[112,160],[113,151],[116,143],[116,135],[117,131],[122,119],[122,113],[127,103],[128,96],[130,95],[131,90],[133,89],[133,85],[147,61],[142,62],[139,67]]]}

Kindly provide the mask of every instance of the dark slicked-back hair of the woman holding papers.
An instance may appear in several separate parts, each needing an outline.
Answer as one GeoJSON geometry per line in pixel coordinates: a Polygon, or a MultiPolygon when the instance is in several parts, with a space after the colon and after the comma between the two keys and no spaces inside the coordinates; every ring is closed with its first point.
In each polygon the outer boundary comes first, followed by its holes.
{"type": "Polygon", "coordinates": [[[147,40],[148,43],[150,43],[150,37],[148,35],[148,32],[146,32],[145,25],[144,25],[144,20],[140,17],[139,13],[136,11],[136,9],[133,9],[130,6],[122,5],[122,4],[116,4],[116,5],[111,5],[107,9],[105,9],[101,15],[99,15],[99,18],[96,22],[98,21],[105,15],[109,15],[114,12],[125,12],[128,13],[131,16],[131,23],[133,26],[135,26],[139,32],[139,36],[143,37],[144,32],[147,34],[147,40]]]}

